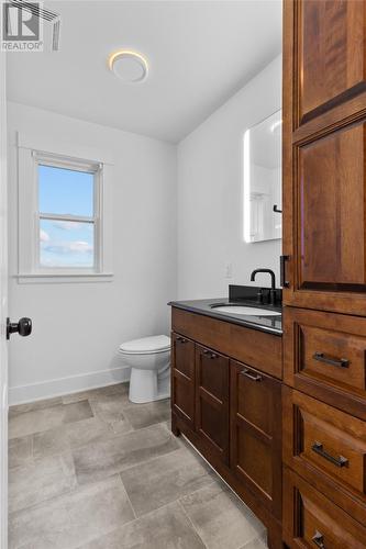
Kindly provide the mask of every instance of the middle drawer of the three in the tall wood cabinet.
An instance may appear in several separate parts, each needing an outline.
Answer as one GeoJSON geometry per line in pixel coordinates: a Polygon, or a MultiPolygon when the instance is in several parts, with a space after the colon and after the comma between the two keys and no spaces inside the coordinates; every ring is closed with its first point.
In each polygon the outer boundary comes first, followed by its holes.
{"type": "Polygon", "coordinates": [[[286,386],[282,405],[285,462],[366,519],[366,423],[286,386]]]}

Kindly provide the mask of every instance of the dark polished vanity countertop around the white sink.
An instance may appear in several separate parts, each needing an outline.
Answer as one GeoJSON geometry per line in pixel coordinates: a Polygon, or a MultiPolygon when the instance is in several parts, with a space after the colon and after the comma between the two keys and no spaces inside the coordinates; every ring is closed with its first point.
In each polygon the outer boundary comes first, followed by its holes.
{"type": "Polygon", "coordinates": [[[266,311],[270,310],[276,313],[281,313],[281,306],[258,305],[253,300],[230,301],[228,300],[228,298],[214,298],[211,300],[192,301],[170,301],[168,304],[177,309],[182,309],[184,311],[188,311],[190,313],[211,316],[212,318],[230,322],[232,324],[239,324],[241,326],[258,329],[260,332],[267,332],[277,336],[282,335],[282,316],[252,316],[220,313],[217,309],[211,309],[211,305],[219,303],[222,305],[247,305],[256,309],[264,309],[266,311]]]}

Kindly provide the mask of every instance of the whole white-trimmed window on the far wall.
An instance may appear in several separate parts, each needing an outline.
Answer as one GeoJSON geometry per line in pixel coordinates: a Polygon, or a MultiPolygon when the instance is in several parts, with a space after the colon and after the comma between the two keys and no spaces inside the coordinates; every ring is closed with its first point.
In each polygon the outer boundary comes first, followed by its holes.
{"type": "Polygon", "coordinates": [[[111,277],[109,167],[26,147],[19,163],[20,281],[111,277]]]}

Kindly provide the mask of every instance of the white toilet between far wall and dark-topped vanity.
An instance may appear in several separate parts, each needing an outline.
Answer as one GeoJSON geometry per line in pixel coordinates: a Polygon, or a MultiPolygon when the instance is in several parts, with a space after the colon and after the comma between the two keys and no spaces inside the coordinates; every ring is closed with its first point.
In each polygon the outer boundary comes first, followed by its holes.
{"type": "Polygon", "coordinates": [[[170,396],[170,337],[151,336],[120,346],[125,366],[131,367],[131,402],[158,401],[170,396]]]}

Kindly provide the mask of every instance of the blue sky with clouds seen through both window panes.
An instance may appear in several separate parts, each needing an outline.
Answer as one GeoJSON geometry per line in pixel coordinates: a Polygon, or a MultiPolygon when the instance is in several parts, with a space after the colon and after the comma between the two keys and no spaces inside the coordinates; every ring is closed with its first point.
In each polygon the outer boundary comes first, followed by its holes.
{"type": "MultiPolygon", "coordinates": [[[[40,165],[38,208],[46,214],[92,216],[93,175],[40,165]]],[[[93,240],[93,223],[41,219],[41,266],[92,268],[93,240]]]]}

